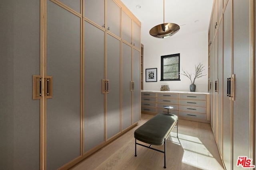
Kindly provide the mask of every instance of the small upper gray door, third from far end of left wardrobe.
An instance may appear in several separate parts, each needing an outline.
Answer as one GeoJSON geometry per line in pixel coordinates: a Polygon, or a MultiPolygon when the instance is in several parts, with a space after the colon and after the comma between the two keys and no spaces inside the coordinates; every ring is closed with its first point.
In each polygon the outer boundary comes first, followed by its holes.
{"type": "Polygon", "coordinates": [[[107,0],[106,29],[120,37],[121,8],[113,0],[107,0]]]}

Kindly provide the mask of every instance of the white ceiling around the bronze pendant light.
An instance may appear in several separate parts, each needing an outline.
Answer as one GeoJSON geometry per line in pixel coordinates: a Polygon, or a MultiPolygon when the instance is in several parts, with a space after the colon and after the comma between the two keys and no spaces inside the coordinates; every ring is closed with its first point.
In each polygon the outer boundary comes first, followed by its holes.
{"type": "Polygon", "coordinates": [[[152,37],[149,30],[163,21],[180,25],[180,30],[168,39],[174,36],[208,31],[214,0],[165,0],[164,4],[163,0],[121,1],[141,21],[142,44],[147,44],[158,39],[152,37]],[[137,5],[140,5],[141,8],[137,9],[137,5]],[[165,14],[163,14],[163,5],[165,14]]]}

